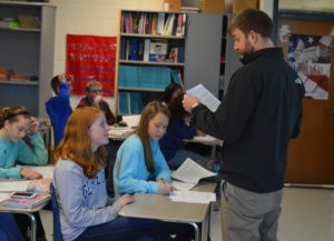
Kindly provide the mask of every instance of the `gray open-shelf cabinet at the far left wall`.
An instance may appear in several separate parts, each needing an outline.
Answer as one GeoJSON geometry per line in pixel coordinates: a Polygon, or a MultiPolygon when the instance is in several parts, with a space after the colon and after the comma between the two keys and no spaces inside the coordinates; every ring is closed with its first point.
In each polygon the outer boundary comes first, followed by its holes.
{"type": "Polygon", "coordinates": [[[55,23],[53,6],[0,2],[0,108],[26,106],[33,116],[47,117],[55,23]]]}

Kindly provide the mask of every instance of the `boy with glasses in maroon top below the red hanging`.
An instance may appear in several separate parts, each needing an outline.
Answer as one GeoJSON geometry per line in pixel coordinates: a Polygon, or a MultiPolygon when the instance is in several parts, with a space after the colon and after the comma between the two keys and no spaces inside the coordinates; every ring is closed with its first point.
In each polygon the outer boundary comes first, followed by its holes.
{"type": "Polygon", "coordinates": [[[116,118],[111,112],[109,104],[104,100],[102,84],[97,80],[89,80],[86,84],[86,92],[87,96],[80,100],[77,108],[98,107],[105,112],[107,123],[112,125],[116,122],[116,118]]]}

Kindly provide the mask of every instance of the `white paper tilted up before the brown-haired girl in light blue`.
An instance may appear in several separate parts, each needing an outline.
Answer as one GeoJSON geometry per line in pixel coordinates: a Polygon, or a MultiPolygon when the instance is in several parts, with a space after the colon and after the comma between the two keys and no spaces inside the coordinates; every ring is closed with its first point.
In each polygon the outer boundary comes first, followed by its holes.
{"type": "Polygon", "coordinates": [[[171,173],[173,178],[193,184],[197,184],[203,178],[213,175],[216,175],[216,173],[206,170],[189,158],[187,158],[186,161],[171,173]]]}

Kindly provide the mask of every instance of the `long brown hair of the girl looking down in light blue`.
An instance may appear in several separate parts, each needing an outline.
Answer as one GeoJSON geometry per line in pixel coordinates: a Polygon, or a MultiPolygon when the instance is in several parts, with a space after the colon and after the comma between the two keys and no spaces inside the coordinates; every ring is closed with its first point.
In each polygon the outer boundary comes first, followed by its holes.
{"type": "Polygon", "coordinates": [[[150,173],[155,171],[155,162],[153,158],[153,150],[150,148],[150,137],[148,135],[148,124],[149,121],[157,114],[164,113],[166,117],[169,118],[168,108],[165,107],[161,102],[151,101],[149,102],[143,110],[139,125],[138,125],[138,137],[141,140],[143,148],[144,148],[144,155],[145,155],[145,164],[147,170],[150,173]]]}

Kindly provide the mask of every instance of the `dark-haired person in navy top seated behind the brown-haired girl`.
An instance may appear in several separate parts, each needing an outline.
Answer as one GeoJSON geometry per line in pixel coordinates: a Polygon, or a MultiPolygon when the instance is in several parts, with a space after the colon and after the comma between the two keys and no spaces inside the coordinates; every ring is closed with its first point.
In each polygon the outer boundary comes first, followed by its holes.
{"type": "Polygon", "coordinates": [[[186,123],[187,112],[183,108],[183,98],[184,90],[177,83],[170,83],[163,96],[170,112],[170,120],[166,133],[159,140],[161,152],[170,169],[177,169],[187,158],[212,169],[214,160],[185,149],[184,140],[193,139],[196,129],[191,123],[186,123]]]}

